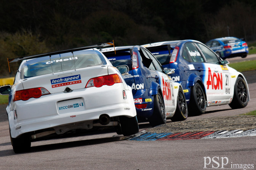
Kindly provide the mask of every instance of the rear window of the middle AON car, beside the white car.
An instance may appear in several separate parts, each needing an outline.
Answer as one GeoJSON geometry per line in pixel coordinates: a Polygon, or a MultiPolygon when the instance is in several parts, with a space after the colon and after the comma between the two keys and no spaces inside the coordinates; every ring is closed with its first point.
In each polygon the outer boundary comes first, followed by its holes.
{"type": "Polygon", "coordinates": [[[111,53],[111,54],[106,54],[104,55],[109,59],[110,63],[117,67],[117,66],[122,66],[126,65],[129,67],[129,70],[132,70],[132,63],[131,63],[131,55],[130,51],[129,52],[118,52],[116,51],[117,54],[111,53]]]}

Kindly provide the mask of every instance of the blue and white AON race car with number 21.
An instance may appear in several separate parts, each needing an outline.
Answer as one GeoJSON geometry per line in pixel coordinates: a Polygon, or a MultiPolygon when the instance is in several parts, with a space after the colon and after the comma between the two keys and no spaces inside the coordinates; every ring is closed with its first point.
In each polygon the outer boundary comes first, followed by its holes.
{"type": "Polygon", "coordinates": [[[229,104],[243,108],[250,100],[242,73],[230,68],[209,47],[195,40],[145,44],[164,69],[174,69],[172,80],[182,85],[190,115],[205,113],[207,106],[229,104]]]}

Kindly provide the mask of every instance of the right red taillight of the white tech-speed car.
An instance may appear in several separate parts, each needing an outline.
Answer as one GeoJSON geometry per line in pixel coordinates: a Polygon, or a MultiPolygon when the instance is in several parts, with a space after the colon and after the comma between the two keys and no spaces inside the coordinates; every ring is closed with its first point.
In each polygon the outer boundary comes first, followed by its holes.
{"type": "Polygon", "coordinates": [[[101,87],[103,85],[111,86],[115,83],[122,83],[121,78],[118,74],[110,74],[106,76],[94,77],[88,81],[85,88],[87,87],[101,87]]]}

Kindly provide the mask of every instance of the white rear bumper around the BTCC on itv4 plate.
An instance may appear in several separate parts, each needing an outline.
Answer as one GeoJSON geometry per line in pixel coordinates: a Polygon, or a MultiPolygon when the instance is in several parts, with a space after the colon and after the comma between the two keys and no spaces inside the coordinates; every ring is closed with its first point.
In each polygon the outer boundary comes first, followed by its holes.
{"type": "Polygon", "coordinates": [[[38,99],[14,102],[17,119],[14,120],[14,110],[8,113],[11,136],[41,129],[53,128],[64,124],[98,120],[102,114],[115,116],[136,116],[133,96],[130,90],[125,90],[127,99],[123,99],[123,83],[100,88],[90,87],[74,90],[71,93],[55,93],[38,99]],[[85,105],[84,110],[60,113],[58,102],[80,98],[85,105]]]}

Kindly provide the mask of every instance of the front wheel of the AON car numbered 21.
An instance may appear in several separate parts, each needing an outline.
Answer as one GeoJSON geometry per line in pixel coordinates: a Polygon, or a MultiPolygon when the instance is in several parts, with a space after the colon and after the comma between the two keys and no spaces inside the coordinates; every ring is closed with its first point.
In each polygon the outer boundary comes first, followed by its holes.
{"type": "Polygon", "coordinates": [[[237,77],[234,88],[234,96],[229,106],[232,109],[240,109],[246,107],[248,104],[248,87],[246,86],[245,80],[242,77],[237,77]]]}

